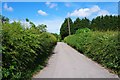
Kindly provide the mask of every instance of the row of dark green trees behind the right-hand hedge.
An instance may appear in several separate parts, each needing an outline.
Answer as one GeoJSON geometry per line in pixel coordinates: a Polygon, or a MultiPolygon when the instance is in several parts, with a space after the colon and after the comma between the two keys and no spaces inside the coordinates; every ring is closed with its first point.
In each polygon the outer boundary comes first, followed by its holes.
{"type": "MultiPolygon", "coordinates": [[[[120,16],[98,16],[91,21],[87,18],[77,18],[74,22],[71,18],[69,18],[70,23],[70,31],[71,34],[75,34],[76,30],[82,28],[89,28],[93,31],[117,31],[119,30],[119,21],[120,16]]],[[[60,29],[61,38],[64,39],[66,36],[69,35],[68,31],[68,18],[65,18],[63,24],[61,25],[60,29]]]]}

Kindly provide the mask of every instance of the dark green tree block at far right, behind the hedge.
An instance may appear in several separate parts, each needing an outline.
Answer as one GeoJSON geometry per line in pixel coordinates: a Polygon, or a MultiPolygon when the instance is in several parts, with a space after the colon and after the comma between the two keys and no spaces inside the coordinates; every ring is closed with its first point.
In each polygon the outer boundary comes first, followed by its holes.
{"type": "Polygon", "coordinates": [[[91,21],[91,29],[99,31],[118,30],[119,16],[98,16],[91,21]]]}

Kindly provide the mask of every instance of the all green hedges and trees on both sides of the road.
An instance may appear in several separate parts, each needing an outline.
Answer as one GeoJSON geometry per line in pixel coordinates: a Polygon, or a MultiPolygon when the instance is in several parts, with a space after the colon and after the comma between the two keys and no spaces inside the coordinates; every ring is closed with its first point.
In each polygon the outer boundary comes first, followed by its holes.
{"type": "Polygon", "coordinates": [[[28,27],[21,22],[10,23],[9,18],[0,15],[2,79],[30,79],[38,69],[45,66],[57,41],[66,42],[120,75],[120,16],[98,16],[91,21],[77,18],[74,22],[69,18],[71,35],[67,19],[58,35],[47,32],[44,24],[36,26],[26,19],[30,24],[28,27]]]}

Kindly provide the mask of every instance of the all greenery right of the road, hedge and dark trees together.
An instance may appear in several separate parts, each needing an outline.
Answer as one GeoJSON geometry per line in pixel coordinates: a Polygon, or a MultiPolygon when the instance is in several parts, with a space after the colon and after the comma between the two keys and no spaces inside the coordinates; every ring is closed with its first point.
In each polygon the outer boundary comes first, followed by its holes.
{"type": "Polygon", "coordinates": [[[69,20],[72,35],[67,31],[67,18],[61,26],[64,42],[120,76],[120,16],[69,20]]]}

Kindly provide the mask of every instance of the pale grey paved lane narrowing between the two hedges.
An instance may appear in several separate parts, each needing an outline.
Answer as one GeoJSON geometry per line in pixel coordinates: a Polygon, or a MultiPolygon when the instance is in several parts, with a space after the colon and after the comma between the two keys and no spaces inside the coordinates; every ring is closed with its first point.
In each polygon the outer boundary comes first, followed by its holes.
{"type": "Polygon", "coordinates": [[[33,78],[117,78],[63,42],[58,42],[48,66],[33,78]]]}

